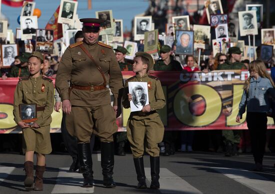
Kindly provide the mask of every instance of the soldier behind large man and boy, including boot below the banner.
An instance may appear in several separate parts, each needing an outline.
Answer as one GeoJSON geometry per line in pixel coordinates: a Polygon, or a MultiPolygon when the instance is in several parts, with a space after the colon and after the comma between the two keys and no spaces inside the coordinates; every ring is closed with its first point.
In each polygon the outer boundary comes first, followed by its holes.
{"type": "MultiPolygon", "coordinates": [[[[121,71],[132,71],[132,64],[126,61],[125,56],[128,52],[123,46],[117,46],[113,49],[115,51],[115,58],[119,64],[121,71]]],[[[118,156],[125,156],[124,147],[127,142],[127,133],[126,132],[117,132],[114,134],[114,139],[116,142],[116,154],[118,156]]]]}

